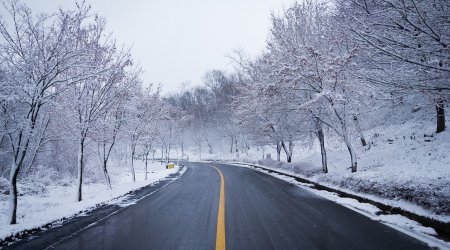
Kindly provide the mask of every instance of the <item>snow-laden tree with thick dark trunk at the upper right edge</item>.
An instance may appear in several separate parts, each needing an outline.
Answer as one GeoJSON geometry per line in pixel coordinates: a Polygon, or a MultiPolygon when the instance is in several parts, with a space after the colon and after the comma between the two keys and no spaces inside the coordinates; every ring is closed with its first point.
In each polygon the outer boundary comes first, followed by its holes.
{"type": "Polygon", "coordinates": [[[342,26],[366,51],[361,78],[390,93],[434,99],[436,132],[445,130],[450,93],[450,2],[339,0],[342,26]]]}

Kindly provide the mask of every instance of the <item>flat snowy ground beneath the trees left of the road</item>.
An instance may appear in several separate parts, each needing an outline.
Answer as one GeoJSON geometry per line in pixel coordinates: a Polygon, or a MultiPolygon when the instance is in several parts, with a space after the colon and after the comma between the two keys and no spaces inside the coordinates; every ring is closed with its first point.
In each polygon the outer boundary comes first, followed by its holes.
{"type": "MultiPolygon", "coordinates": [[[[108,190],[104,182],[89,183],[87,181],[88,183],[83,185],[83,200],[81,202],[75,201],[77,186],[74,179],[61,180],[54,184],[48,183],[45,192],[40,194],[27,192],[27,194],[19,196],[18,224],[16,225],[9,225],[8,223],[8,196],[1,194],[0,222],[2,226],[0,227],[0,240],[26,229],[37,228],[61,218],[71,217],[81,211],[89,211],[95,208],[97,204],[109,202],[128,206],[130,204],[123,203],[122,198],[115,198],[121,197],[131,190],[154,184],[179,170],[178,166],[167,170],[165,165],[161,165],[159,162],[149,163],[148,179],[145,180],[144,163],[136,161],[135,164],[136,182],[132,181],[129,169],[110,168],[112,190],[108,190]]],[[[19,185],[19,191],[20,187],[21,185],[19,185]]],[[[80,215],[82,216],[82,214],[80,215]]]]}

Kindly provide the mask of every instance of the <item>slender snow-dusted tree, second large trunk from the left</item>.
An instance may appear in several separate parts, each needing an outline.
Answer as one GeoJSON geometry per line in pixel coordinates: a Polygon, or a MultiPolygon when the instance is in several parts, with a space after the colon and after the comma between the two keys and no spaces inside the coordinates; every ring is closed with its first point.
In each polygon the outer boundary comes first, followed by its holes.
{"type": "Polygon", "coordinates": [[[137,82],[140,71],[127,73],[132,61],[128,50],[117,50],[115,42],[103,40],[105,20],[95,18],[86,28],[79,31],[83,34],[79,46],[83,49],[85,77],[72,84],[66,96],[67,109],[75,113],[77,124],[75,135],[78,141],[78,186],[77,201],[82,200],[83,171],[85,147],[91,132],[95,132],[98,121],[104,117],[118,102],[130,86],[137,82]],[[127,75],[128,74],[128,75],[127,75]]]}

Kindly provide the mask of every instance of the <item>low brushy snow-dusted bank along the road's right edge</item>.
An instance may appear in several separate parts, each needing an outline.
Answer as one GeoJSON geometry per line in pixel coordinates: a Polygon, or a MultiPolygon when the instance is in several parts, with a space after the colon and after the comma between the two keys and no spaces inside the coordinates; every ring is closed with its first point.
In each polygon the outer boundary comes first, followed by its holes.
{"type": "Polygon", "coordinates": [[[445,178],[433,179],[415,175],[415,172],[412,175],[403,171],[397,173],[396,169],[388,171],[377,168],[356,173],[323,174],[317,166],[309,164],[289,164],[273,160],[260,160],[258,164],[419,215],[450,222],[450,187],[445,178]]]}

